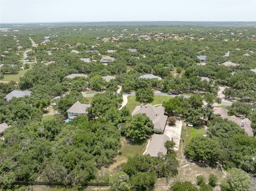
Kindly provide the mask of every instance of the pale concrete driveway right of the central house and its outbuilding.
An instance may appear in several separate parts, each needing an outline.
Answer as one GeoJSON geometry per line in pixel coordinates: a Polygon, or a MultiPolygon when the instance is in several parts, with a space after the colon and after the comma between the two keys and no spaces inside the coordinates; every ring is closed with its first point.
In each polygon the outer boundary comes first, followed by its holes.
{"type": "Polygon", "coordinates": [[[182,121],[176,120],[176,123],[174,126],[169,126],[169,124],[166,124],[164,129],[164,135],[168,136],[170,140],[174,141],[175,143],[174,150],[176,151],[179,150],[181,128],[182,128],[182,121]]]}

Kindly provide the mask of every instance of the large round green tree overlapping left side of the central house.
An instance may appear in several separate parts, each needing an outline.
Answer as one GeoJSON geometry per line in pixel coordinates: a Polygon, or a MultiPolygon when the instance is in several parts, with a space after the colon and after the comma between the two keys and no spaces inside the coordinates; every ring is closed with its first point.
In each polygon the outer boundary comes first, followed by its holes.
{"type": "Polygon", "coordinates": [[[145,140],[153,131],[153,123],[145,114],[134,115],[124,125],[126,137],[134,142],[145,140]]]}

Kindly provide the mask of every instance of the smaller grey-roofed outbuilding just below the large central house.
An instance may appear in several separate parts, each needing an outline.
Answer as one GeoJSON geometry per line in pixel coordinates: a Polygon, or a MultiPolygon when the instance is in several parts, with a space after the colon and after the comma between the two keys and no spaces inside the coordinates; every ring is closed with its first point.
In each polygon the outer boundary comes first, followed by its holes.
{"type": "Polygon", "coordinates": [[[167,149],[164,144],[167,140],[170,140],[170,138],[166,135],[154,134],[150,140],[146,154],[153,157],[157,157],[158,153],[166,154],[167,149]]]}

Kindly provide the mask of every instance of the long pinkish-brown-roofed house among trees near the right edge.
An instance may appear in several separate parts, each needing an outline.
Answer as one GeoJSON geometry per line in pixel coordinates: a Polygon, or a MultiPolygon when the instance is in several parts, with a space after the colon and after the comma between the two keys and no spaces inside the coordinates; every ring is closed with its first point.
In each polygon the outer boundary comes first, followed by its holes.
{"type": "Polygon", "coordinates": [[[250,119],[248,119],[248,118],[240,119],[240,118],[237,118],[235,115],[228,116],[228,111],[221,107],[214,107],[213,113],[216,115],[219,115],[222,119],[227,119],[229,121],[235,122],[236,124],[238,124],[238,126],[240,126],[241,128],[243,128],[245,130],[245,132],[248,136],[253,137],[253,131],[252,131],[252,127],[251,127],[252,122],[250,119]]]}

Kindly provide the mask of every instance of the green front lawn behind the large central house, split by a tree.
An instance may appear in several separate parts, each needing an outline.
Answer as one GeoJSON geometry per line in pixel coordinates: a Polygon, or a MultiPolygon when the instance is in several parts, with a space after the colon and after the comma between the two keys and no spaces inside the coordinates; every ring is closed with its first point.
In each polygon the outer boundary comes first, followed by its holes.
{"type": "MultiPolygon", "coordinates": [[[[151,103],[152,105],[163,104],[164,101],[168,101],[171,97],[168,96],[154,96],[154,101],[151,103]]],[[[135,96],[128,96],[128,103],[126,107],[132,112],[134,108],[140,105],[140,102],[135,101],[135,96]]]]}

